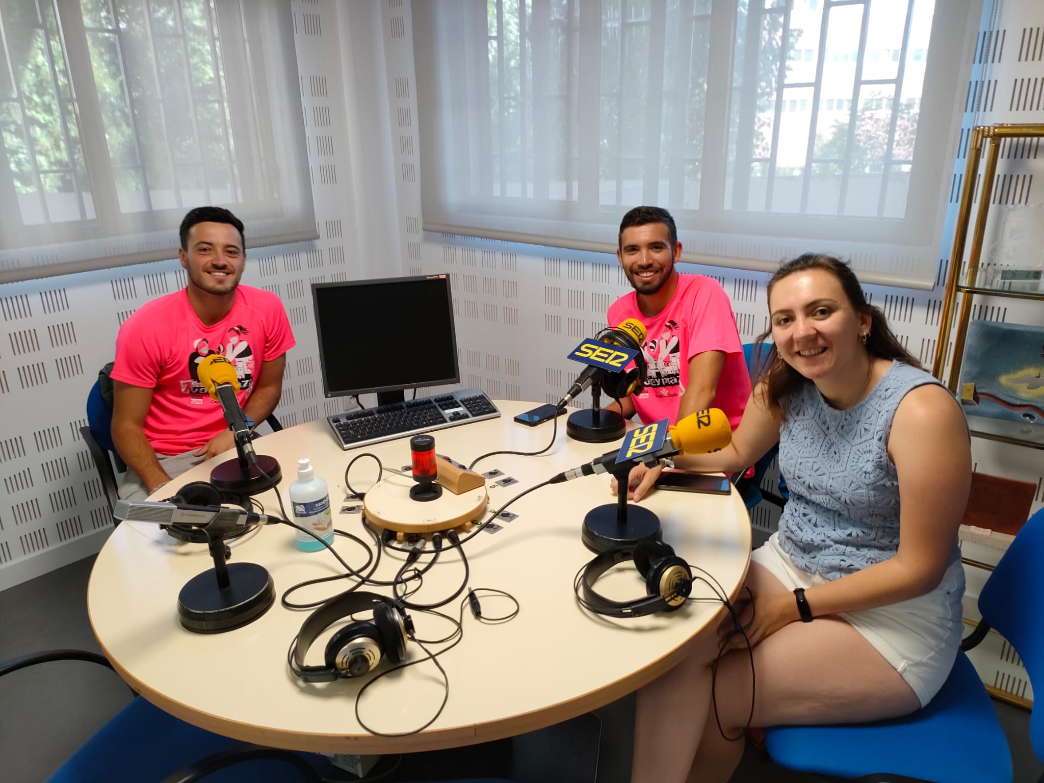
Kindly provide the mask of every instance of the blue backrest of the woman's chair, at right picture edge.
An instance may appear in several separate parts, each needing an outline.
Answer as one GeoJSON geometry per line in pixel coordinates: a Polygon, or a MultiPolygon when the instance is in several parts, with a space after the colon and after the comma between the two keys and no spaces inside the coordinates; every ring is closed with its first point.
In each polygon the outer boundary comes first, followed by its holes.
{"type": "MultiPolygon", "coordinates": [[[[979,612],[1019,654],[1035,691],[1044,693],[1044,508],[1019,530],[979,593],[979,612]]],[[[1036,708],[1036,699],[1034,706],[1036,708]]],[[[1044,710],[1029,716],[1029,740],[1044,761],[1044,710]]]]}

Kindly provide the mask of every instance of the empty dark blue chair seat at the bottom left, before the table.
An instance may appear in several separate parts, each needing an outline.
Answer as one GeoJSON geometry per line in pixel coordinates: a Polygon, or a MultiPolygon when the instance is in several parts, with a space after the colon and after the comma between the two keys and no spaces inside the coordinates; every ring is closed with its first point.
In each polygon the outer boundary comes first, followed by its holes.
{"type": "MultiPolygon", "coordinates": [[[[193,760],[242,744],[186,723],[138,696],[76,751],[50,778],[50,783],[161,781],[193,760]]],[[[299,755],[317,774],[330,768],[323,756],[299,755]]],[[[301,780],[301,773],[283,761],[256,759],[214,772],[206,780],[207,783],[292,783],[301,780]]]]}

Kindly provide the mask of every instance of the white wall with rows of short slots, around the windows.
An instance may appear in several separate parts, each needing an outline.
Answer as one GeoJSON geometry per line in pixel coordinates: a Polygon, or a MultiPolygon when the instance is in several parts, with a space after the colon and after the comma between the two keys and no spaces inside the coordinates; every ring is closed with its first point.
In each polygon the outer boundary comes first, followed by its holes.
{"type": "MultiPolygon", "coordinates": [[[[409,2],[294,0],[293,11],[321,239],[255,251],[244,276],[244,282],[279,293],[298,338],[277,414],[293,425],[346,407],[345,400],[323,399],[311,282],[422,271],[452,275],[464,384],[496,398],[556,400],[575,373],[566,353],[604,323],[609,303],[627,290],[615,259],[423,235],[409,2]]],[[[1044,39],[1044,4],[998,0],[992,27],[976,51],[968,52],[976,74],[966,125],[1044,121],[1039,97],[1044,45],[1030,49],[1025,43],[1027,34],[1044,39]],[[1019,98],[1028,91],[1033,101],[1019,98]]],[[[954,128],[939,143],[963,149],[966,136],[954,128]]],[[[1044,160],[1037,156],[1034,147],[1004,164],[1031,173],[1044,160]]],[[[962,157],[956,170],[964,164],[962,157]]],[[[957,198],[958,179],[951,200],[957,198]]],[[[1033,200],[1031,180],[1027,190],[1033,200]]],[[[930,292],[867,286],[907,348],[928,364],[948,243],[940,257],[930,292]]],[[[693,270],[722,283],[744,341],[765,328],[766,275],[693,270]]],[[[111,522],[78,436],[87,393],[96,369],[112,358],[122,321],[142,303],[184,284],[177,263],[165,261],[0,286],[5,333],[0,336],[0,589],[94,552],[104,542],[111,522]],[[42,374],[46,380],[37,382],[42,374]]],[[[977,317],[1044,324],[1041,308],[1033,304],[980,302],[977,317]]],[[[360,338],[374,337],[380,325],[357,328],[360,338]]],[[[1035,482],[1034,507],[1044,503],[1042,452],[975,440],[973,454],[979,471],[1035,482]]],[[[753,522],[769,529],[776,516],[772,506],[759,507],[753,522]]],[[[980,583],[981,574],[969,574],[972,598],[980,583]]],[[[977,662],[984,679],[1028,695],[1020,664],[1009,661],[1014,657],[1003,648],[991,655],[996,657],[977,662]]]]}

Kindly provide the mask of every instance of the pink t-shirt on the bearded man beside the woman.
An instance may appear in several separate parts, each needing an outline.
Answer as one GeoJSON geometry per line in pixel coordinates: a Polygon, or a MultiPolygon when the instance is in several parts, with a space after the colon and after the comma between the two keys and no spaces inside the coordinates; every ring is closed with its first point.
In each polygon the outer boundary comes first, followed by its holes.
{"type": "Polygon", "coordinates": [[[611,326],[626,318],[645,325],[642,353],[648,362],[648,378],[645,390],[631,397],[643,424],[661,419],[670,419],[674,424],[682,395],[689,385],[689,360],[706,351],[721,351],[725,365],[714,407],[725,411],[733,430],[739,426],[751,396],[751,377],[732,303],[716,280],[704,275],[679,275],[674,295],[651,317],[642,315],[638,294],[631,291],[610,306],[608,318],[611,326]]]}

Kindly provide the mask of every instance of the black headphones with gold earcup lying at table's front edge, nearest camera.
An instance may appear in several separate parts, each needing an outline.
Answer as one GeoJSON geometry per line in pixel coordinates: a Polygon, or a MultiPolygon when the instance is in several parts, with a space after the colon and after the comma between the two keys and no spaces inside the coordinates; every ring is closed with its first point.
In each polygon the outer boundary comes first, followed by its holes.
{"type": "Polygon", "coordinates": [[[348,593],[315,610],[305,623],[288,658],[290,671],[306,683],[330,683],[339,678],[362,677],[382,657],[392,663],[406,658],[406,637],[413,635],[413,620],[402,604],[377,593],[348,593]],[[306,666],[305,656],[319,634],[337,620],[373,610],[373,621],[351,622],[327,642],[326,665],[306,666]]]}

